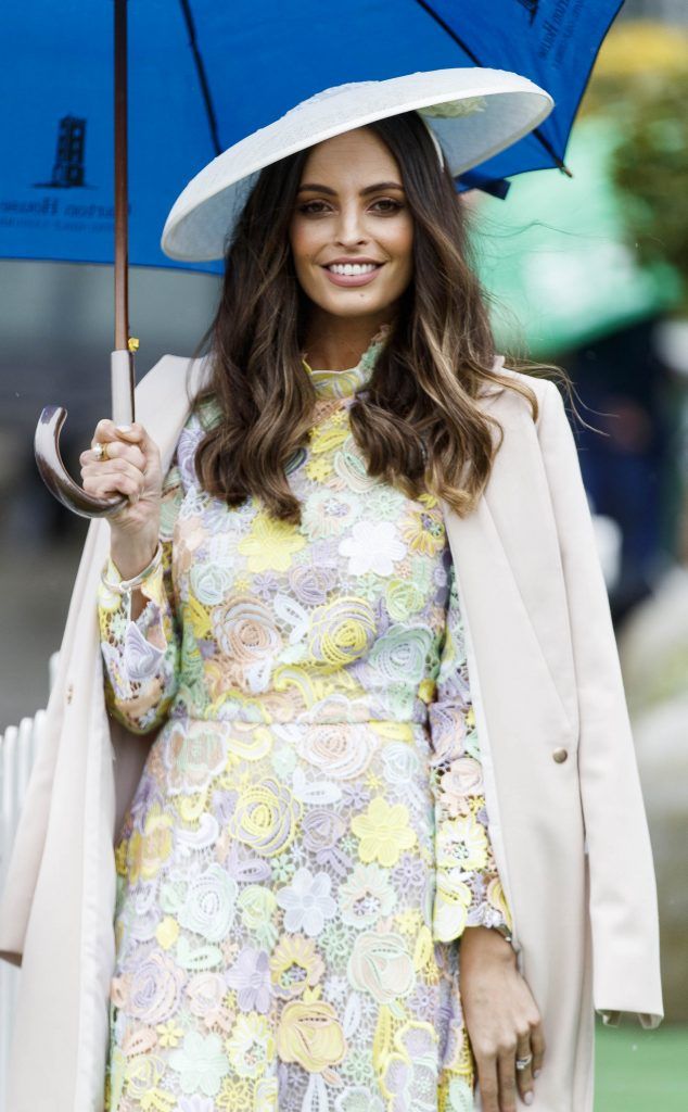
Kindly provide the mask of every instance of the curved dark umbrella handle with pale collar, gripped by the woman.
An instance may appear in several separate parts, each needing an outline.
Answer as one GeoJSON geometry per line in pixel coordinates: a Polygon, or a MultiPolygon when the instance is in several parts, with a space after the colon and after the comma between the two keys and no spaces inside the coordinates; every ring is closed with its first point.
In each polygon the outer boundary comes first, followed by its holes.
{"type": "MultiPolygon", "coordinates": [[[[110,356],[112,417],[117,425],[133,420],[133,356],[130,351],[112,351],[110,356]]],[[[111,517],[127,506],[123,495],[96,498],[72,479],[60,454],[60,431],[67,417],[62,406],[46,406],[33,437],[33,451],[41,478],[50,493],[79,517],[111,517]]]]}

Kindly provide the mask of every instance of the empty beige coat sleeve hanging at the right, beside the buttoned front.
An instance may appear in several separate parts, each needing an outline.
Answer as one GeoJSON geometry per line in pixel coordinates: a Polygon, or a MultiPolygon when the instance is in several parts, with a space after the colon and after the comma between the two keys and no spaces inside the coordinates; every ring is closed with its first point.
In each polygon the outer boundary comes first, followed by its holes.
{"type": "Polygon", "coordinates": [[[607,1024],[627,1011],[656,1027],[664,1016],[657,890],[621,668],[574,434],[558,388],[544,385],[538,436],[574,645],[595,1007],[607,1024]]]}

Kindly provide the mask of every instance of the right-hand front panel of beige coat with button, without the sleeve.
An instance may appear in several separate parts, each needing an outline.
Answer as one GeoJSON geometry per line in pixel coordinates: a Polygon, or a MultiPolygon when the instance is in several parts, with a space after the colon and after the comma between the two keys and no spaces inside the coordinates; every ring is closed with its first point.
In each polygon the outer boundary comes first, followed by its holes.
{"type": "Polygon", "coordinates": [[[505,440],[475,512],[460,518],[445,506],[445,523],[490,843],[548,1045],[534,1108],[571,1112],[591,1108],[592,1042],[576,685],[547,475],[525,404],[508,389],[486,399],[505,440]]]}

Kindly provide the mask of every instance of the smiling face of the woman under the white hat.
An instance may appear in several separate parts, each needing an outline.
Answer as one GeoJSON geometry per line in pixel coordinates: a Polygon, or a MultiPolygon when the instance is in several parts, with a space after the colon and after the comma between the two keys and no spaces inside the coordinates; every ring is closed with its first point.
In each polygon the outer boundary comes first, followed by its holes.
{"type": "Polygon", "coordinates": [[[413,220],[388,147],[358,128],[313,147],[289,229],[297,278],[337,317],[379,315],[413,272],[413,220]]]}

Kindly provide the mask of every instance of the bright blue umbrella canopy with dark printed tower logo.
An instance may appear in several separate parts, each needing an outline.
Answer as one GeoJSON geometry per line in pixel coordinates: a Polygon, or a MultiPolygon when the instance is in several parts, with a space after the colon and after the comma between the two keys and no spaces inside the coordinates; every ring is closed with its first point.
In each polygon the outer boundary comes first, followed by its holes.
{"type": "MultiPolygon", "coordinates": [[[[129,258],[179,264],[160,234],[186,182],[219,151],[346,81],[481,64],[513,70],[556,107],[536,132],[465,175],[560,166],[619,0],[137,0],[129,4],[129,258]]],[[[0,255],[113,258],[112,6],[4,6],[0,36],[0,255]]],[[[551,177],[551,176],[548,176],[551,177]]]]}

